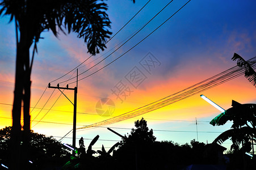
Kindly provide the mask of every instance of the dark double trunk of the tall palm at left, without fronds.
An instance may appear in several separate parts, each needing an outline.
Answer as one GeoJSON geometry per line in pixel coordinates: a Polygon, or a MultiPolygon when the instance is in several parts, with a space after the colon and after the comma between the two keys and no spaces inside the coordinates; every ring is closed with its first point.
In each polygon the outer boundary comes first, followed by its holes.
{"type": "Polygon", "coordinates": [[[20,42],[17,45],[14,105],[12,108],[11,169],[26,169],[30,142],[30,46],[32,39],[27,26],[20,25],[20,42]],[[22,112],[24,133],[22,135],[20,117],[22,112]],[[22,145],[21,145],[22,144],[22,145]]]}

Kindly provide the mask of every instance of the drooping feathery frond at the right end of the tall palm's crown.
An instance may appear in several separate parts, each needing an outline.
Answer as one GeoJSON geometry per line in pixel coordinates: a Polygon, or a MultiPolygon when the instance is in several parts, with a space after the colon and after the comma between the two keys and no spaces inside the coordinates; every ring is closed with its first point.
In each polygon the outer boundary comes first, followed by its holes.
{"type": "Polygon", "coordinates": [[[106,3],[78,0],[67,3],[62,11],[65,28],[68,32],[77,33],[79,38],[83,37],[91,54],[99,53],[99,49],[104,50],[106,39],[111,35],[108,31],[111,22],[106,10],[106,3]]]}

